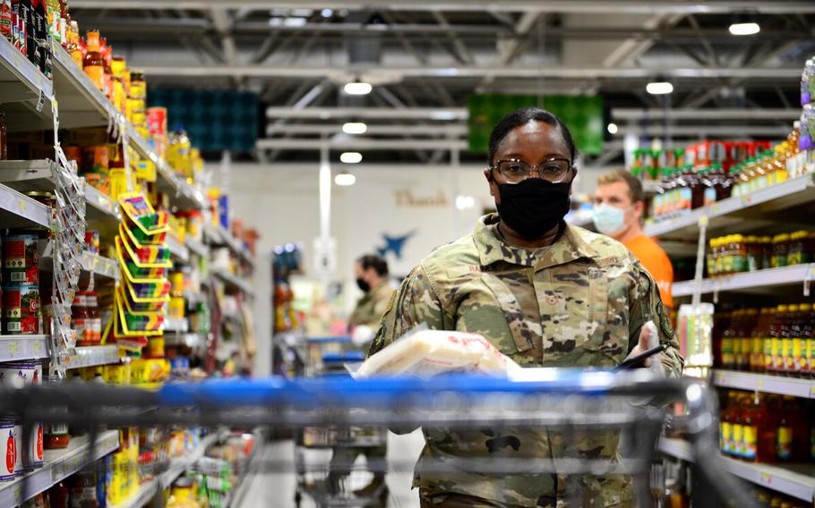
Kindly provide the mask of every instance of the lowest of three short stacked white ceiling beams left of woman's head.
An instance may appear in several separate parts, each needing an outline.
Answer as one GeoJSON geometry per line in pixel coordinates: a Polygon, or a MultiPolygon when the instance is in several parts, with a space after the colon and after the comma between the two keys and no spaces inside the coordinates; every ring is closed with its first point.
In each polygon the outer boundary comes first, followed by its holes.
{"type": "Polygon", "coordinates": [[[466,150],[467,140],[366,140],[364,138],[335,138],[332,140],[257,140],[260,150],[319,150],[328,143],[329,148],[356,150],[466,150]]]}

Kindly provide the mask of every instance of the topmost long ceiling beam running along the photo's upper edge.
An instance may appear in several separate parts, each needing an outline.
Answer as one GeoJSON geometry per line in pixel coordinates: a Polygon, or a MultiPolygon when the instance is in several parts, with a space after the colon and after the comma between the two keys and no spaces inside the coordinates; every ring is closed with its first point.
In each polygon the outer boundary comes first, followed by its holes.
{"type": "MultiPolygon", "coordinates": [[[[266,0],[73,0],[72,7],[90,9],[184,9],[210,10],[213,7],[226,9],[268,9],[266,0]]],[[[506,12],[553,12],[553,13],[625,13],[625,14],[725,14],[733,12],[753,13],[815,13],[815,4],[808,0],[786,1],[775,0],[675,0],[673,2],[626,1],[609,2],[607,0],[492,0],[488,5],[472,0],[415,0],[414,2],[397,2],[395,0],[296,0],[276,2],[280,9],[390,9],[395,11],[492,11],[506,12]]]]}

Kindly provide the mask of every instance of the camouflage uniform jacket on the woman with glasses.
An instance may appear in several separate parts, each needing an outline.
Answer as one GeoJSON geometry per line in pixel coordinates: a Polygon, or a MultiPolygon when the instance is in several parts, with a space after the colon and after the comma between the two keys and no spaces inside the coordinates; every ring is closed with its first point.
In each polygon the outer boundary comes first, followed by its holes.
{"type": "MultiPolygon", "coordinates": [[[[369,354],[414,326],[483,334],[524,367],[618,365],[653,320],[668,376],[682,372],[682,357],[656,284],[621,243],[565,225],[552,246],[521,249],[500,240],[497,215],[482,217],[474,233],[425,258],[391,296],[369,354]]],[[[519,506],[564,506],[565,476],[424,474],[422,461],[445,457],[573,457],[564,439],[547,429],[455,431],[425,428],[425,450],[414,486],[458,492],[519,506]],[[560,501],[560,502],[559,502],[560,501]]],[[[580,436],[581,456],[617,457],[618,436],[580,436]]],[[[429,471],[428,471],[429,473],[429,471]]],[[[628,477],[581,478],[584,506],[630,504],[628,477]],[[587,495],[588,493],[588,495],[587,495]]]]}

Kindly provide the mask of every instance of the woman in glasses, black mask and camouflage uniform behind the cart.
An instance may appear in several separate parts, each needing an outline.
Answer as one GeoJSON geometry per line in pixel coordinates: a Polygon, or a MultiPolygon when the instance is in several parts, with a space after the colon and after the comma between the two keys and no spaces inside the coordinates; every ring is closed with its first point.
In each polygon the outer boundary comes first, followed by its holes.
{"type": "MultiPolygon", "coordinates": [[[[571,132],[542,109],[508,114],[490,137],[484,174],[498,214],[473,233],[433,251],[391,296],[369,354],[425,323],[433,329],[483,334],[523,367],[613,368],[647,349],[653,321],[669,346],[649,359],[669,377],[682,357],[654,280],[621,243],[566,224],[577,174],[571,132]]],[[[446,458],[563,456],[546,429],[456,431],[425,428],[414,486],[423,506],[566,505],[565,477],[422,471],[446,458]]],[[[613,458],[618,436],[584,436],[578,453],[613,458]]],[[[631,505],[630,478],[580,478],[583,506],[631,505]]]]}

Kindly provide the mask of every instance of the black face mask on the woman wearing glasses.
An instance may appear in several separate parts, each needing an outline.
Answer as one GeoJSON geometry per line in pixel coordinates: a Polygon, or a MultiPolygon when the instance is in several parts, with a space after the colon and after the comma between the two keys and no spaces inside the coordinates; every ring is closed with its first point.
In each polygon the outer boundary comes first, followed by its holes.
{"type": "Polygon", "coordinates": [[[569,212],[571,182],[552,183],[529,178],[520,183],[499,183],[498,215],[527,240],[536,240],[561,222],[569,212]]]}

